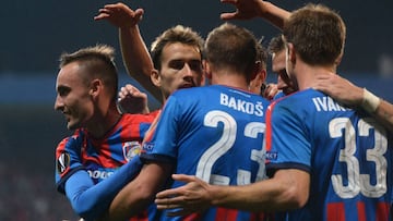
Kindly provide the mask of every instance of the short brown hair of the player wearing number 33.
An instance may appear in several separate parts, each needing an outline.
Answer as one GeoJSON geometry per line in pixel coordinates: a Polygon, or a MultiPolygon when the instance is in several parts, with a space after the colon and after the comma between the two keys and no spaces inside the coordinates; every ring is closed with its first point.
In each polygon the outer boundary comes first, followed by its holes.
{"type": "Polygon", "coordinates": [[[344,52],[346,28],[342,17],[322,4],[309,3],[291,13],[283,34],[300,58],[311,65],[330,65],[344,52]]]}

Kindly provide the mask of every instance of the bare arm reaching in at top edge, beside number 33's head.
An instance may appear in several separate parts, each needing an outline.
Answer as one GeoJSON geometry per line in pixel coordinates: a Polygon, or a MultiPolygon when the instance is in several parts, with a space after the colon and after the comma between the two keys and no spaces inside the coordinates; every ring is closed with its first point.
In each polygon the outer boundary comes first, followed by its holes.
{"type": "Polygon", "coordinates": [[[251,20],[253,17],[262,17],[282,29],[284,21],[290,15],[290,12],[278,8],[269,1],[222,0],[222,3],[233,4],[237,9],[235,12],[222,13],[222,20],[251,20]]]}

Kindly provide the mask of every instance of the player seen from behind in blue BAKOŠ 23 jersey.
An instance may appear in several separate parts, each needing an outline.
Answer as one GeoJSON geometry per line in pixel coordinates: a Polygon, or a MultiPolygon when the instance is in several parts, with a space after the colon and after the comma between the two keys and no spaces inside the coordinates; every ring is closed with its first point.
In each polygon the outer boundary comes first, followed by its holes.
{"type": "MultiPolygon", "coordinates": [[[[230,24],[210,33],[205,69],[212,85],[169,97],[157,127],[146,135],[141,155],[144,167],[114,199],[108,219],[121,220],[143,209],[174,171],[221,185],[246,185],[264,177],[263,122],[269,101],[248,91],[260,69],[257,44],[250,32],[230,24]]],[[[258,218],[237,210],[205,209],[176,220],[258,218]]]]}

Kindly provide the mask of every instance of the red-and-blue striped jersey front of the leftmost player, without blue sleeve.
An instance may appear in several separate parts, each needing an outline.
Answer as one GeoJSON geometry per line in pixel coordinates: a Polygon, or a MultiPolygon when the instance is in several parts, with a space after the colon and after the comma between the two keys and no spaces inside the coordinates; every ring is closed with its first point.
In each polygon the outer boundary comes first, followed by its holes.
{"type": "MultiPolygon", "coordinates": [[[[58,191],[64,193],[66,181],[79,170],[87,171],[97,184],[139,155],[144,134],[157,113],[158,111],[151,114],[123,114],[114,128],[99,139],[80,128],[60,142],[56,150],[58,191]]],[[[136,220],[147,220],[146,211],[136,220]]]]}

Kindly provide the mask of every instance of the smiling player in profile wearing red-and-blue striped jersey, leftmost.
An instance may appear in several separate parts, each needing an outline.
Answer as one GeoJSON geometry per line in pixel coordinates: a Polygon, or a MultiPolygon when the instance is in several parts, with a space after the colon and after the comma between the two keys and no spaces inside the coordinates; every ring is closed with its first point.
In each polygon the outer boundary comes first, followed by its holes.
{"type": "MultiPolygon", "coordinates": [[[[86,220],[99,218],[140,171],[143,135],[157,115],[120,114],[117,89],[111,47],[83,48],[60,57],[55,109],[74,133],[57,147],[56,184],[86,220]]],[[[150,214],[154,220],[155,213],[150,214]]],[[[147,220],[146,212],[138,216],[147,220]]]]}

